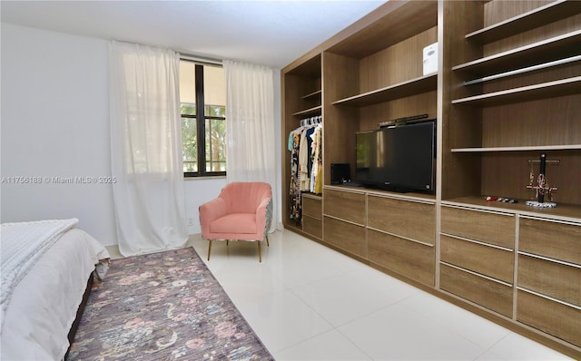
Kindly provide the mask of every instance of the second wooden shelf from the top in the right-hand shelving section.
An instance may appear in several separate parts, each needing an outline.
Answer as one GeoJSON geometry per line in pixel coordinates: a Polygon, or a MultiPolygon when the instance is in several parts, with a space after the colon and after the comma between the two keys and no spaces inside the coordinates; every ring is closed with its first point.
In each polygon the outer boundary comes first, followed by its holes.
{"type": "MultiPolygon", "coordinates": [[[[581,3],[581,2],[580,2],[581,3]]],[[[454,66],[452,70],[484,76],[581,54],[581,30],[454,66]]]]}

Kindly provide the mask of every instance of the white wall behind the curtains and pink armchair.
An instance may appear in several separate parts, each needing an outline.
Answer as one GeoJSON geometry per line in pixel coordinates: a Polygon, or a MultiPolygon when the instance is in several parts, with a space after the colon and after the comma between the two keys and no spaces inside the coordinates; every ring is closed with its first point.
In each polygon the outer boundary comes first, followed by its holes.
{"type": "MultiPolygon", "coordinates": [[[[103,245],[117,244],[111,185],[74,182],[75,177],[111,175],[106,41],[12,24],[2,24],[1,35],[1,221],[78,218],[79,227],[103,245]],[[20,180],[13,177],[40,177],[41,182],[15,183],[20,180]]],[[[201,232],[198,206],[217,196],[225,183],[223,178],[185,181],[191,234],[201,232]]]]}

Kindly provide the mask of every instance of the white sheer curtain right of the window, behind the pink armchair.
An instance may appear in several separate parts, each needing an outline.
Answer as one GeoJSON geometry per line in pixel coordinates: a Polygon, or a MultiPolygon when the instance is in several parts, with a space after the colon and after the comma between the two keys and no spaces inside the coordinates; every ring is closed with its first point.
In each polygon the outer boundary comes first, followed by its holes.
{"type": "Polygon", "coordinates": [[[274,71],[266,66],[225,60],[226,75],[226,179],[271,184],[273,214],[270,231],[281,228],[276,199],[274,134],[274,71]]]}

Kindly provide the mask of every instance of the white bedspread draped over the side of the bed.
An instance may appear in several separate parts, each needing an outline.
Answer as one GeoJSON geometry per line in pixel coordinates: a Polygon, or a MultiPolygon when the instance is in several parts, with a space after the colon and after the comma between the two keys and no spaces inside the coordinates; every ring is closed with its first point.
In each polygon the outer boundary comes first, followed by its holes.
{"type": "Polygon", "coordinates": [[[87,279],[109,254],[82,229],[69,229],[44,251],[14,289],[1,330],[0,359],[61,360],[87,279]]]}

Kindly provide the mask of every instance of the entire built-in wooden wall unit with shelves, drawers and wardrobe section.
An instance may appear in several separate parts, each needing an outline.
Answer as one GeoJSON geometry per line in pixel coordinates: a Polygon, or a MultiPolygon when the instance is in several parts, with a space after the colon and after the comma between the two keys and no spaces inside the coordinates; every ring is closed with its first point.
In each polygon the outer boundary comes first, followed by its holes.
{"type": "Polygon", "coordinates": [[[322,215],[305,197],[303,224],[289,219],[283,166],[286,228],[581,358],[581,1],[392,0],[282,69],[281,85],[283,140],[324,116],[322,215]],[[424,74],[434,43],[438,71],[424,74]],[[435,193],[330,183],[332,163],[355,175],[356,132],[414,114],[437,119],[435,193]],[[542,153],[558,161],[555,209],[525,204],[542,153]]]}

